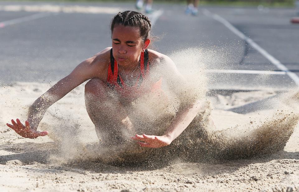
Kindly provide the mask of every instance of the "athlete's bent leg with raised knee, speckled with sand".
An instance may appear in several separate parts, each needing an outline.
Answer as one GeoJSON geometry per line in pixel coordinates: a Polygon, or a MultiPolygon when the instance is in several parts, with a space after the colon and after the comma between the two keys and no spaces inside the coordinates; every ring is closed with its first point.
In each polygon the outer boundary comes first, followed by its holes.
{"type": "Polygon", "coordinates": [[[132,124],[125,108],[114,91],[102,80],[94,78],[86,83],[85,105],[97,136],[103,143],[122,143],[123,138],[132,136],[128,135],[132,124]]]}

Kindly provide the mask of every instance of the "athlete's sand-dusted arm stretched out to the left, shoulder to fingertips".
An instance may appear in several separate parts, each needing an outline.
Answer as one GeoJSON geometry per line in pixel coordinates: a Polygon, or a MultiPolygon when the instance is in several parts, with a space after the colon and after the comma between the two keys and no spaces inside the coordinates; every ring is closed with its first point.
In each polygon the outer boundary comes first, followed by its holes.
{"type": "Polygon", "coordinates": [[[105,78],[105,58],[107,50],[94,55],[80,63],[68,76],[61,79],[42,96],[40,96],[29,108],[28,119],[25,126],[17,119],[17,123],[12,119],[12,125],[8,127],[14,129],[19,135],[26,138],[37,138],[44,136],[48,132],[36,131],[44,117],[46,110],[56,101],[60,100],[74,88],[91,78],[105,78]]]}

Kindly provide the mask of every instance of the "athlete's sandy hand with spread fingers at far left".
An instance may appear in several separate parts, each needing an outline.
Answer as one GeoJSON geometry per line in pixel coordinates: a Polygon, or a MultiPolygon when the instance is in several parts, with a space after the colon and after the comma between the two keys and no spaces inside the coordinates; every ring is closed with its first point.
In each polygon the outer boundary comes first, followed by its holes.
{"type": "Polygon", "coordinates": [[[23,125],[19,119],[17,119],[17,123],[12,119],[12,124],[7,123],[6,125],[25,138],[35,139],[39,136],[45,136],[48,134],[48,131],[39,132],[30,129],[29,121],[25,121],[25,125],[23,125]]]}

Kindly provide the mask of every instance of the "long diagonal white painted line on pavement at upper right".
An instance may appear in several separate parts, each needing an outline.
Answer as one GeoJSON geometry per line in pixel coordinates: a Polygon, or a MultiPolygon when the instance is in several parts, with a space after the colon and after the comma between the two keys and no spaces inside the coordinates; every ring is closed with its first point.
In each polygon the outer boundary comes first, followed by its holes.
{"type": "Polygon", "coordinates": [[[261,48],[258,44],[256,44],[252,39],[244,35],[240,30],[235,28],[230,22],[228,22],[223,17],[211,13],[207,9],[204,9],[203,14],[206,16],[210,16],[216,21],[221,22],[224,26],[226,26],[229,30],[231,30],[233,33],[238,35],[242,40],[246,41],[248,44],[250,44],[254,49],[256,49],[260,54],[262,54],[265,58],[267,58],[273,65],[275,65],[278,69],[280,69],[282,72],[285,72],[295,83],[297,86],[299,86],[299,77],[296,75],[296,73],[291,72],[285,65],[283,65],[278,59],[274,58],[272,55],[270,55],[265,49],[261,48]]]}

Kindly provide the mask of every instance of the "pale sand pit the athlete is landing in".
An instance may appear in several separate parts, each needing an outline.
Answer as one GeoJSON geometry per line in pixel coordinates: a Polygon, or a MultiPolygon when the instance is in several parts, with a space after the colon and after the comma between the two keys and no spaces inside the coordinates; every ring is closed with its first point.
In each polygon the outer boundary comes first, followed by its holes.
{"type": "MultiPolygon", "coordinates": [[[[296,116],[290,115],[286,118],[285,114],[275,116],[280,124],[284,124],[284,127],[278,129],[279,126],[271,121],[271,117],[270,120],[266,120],[266,124],[264,121],[255,122],[261,116],[267,119],[266,116],[271,113],[269,109],[255,109],[246,114],[230,111],[231,108],[273,96],[277,94],[276,92],[215,94],[208,99],[214,103],[211,115],[218,129],[215,133],[221,133],[227,128],[235,130],[234,128],[240,125],[244,125],[242,128],[247,125],[250,127],[250,124],[255,128],[258,127],[257,130],[268,130],[268,133],[269,130],[273,130],[271,126],[277,127],[275,130],[284,132],[281,136],[269,135],[264,139],[270,138],[267,141],[269,145],[283,145],[282,150],[278,152],[274,150],[275,152],[271,153],[276,146],[265,147],[260,141],[261,143],[254,143],[254,146],[267,148],[268,153],[258,153],[259,148],[255,148],[256,156],[253,154],[254,157],[249,158],[240,156],[232,160],[230,156],[225,155],[238,152],[225,152],[225,146],[222,146],[223,150],[215,151],[219,152],[218,157],[222,154],[223,158],[217,159],[215,155],[216,161],[197,159],[196,162],[191,162],[176,158],[166,159],[164,162],[168,163],[161,164],[145,162],[141,165],[116,166],[92,158],[93,151],[86,153],[96,145],[97,136],[85,110],[83,85],[50,107],[39,127],[49,131],[49,136],[36,139],[21,138],[5,125],[12,118],[25,120],[28,105],[49,87],[50,84],[39,83],[16,83],[0,87],[0,94],[5,96],[5,99],[0,101],[0,191],[299,190],[299,129],[297,123],[292,124],[292,119],[288,121],[290,118],[297,121],[296,116]],[[282,120],[283,118],[286,120],[282,120]],[[263,126],[266,125],[271,126],[264,129],[263,126]],[[294,130],[286,129],[287,126],[293,126],[294,130]],[[294,131],[289,139],[283,138],[289,135],[287,131],[290,133],[294,131]],[[271,140],[271,137],[275,141],[271,140]],[[281,138],[281,142],[278,138],[281,138]],[[288,142],[285,145],[286,140],[288,142]]],[[[239,136],[240,138],[244,136],[243,131],[231,133],[236,135],[236,141],[230,142],[230,146],[237,146],[235,150],[240,150],[242,146],[248,144],[242,143],[246,140],[238,141],[239,136]]],[[[249,137],[253,137],[252,134],[249,134],[249,137]]],[[[206,143],[203,145],[210,146],[206,143]]],[[[189,156],[192,157],[190,154],[189,156]]]]}

